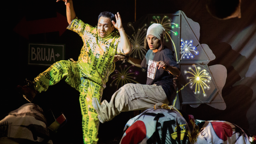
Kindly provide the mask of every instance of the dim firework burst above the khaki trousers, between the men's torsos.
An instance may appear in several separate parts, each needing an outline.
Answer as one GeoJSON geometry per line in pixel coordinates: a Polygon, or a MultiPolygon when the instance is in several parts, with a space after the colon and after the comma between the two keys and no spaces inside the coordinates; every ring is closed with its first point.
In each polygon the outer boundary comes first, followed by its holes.
{"type": "Polygon", "coordinates": [[[115,70],[114,74],[110,76],[110,78],[113,79],[113,81],[110,83],[110,87],[116,86],[116,89],[119,88],[119,84],[121,84],[121,86],[125,85],[126,83],[131,83],[131,82],[136,82],[134,79],[136,79],[136,75],[139,74],[139,72],[135,71],[132,72],[131,67],[133,67],[134,65],[128,67],[127,65],[124,65],[124,69],[122,69],[122,66],[119,65],[120,71],[115,70]],[[134,74],[135,76],[131,76],[132,74],[134,74]]]}

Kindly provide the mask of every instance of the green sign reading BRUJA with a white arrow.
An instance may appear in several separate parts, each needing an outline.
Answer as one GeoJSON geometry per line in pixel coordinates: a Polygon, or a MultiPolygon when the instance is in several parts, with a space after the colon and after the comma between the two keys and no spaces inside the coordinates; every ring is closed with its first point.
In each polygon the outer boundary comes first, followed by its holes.
{"type": "Polygon", "coordinates": [[[65,59],[65,44],[29,44],[29,65],[52,65],[65,59]]]}

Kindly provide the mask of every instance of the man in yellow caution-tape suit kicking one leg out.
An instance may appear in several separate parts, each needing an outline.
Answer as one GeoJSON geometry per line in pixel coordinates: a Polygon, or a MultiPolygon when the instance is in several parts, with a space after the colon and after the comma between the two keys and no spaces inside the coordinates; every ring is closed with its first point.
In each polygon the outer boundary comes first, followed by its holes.
{"type": "Polygon", "coordinates": [[[17,88],[24,98],[31,102],[37,93],[46,91],[48,86],[64,78],[71,87],[80,92],[84,143],[97,143],[99,120],[92,106],[92,97],[101,100],[108,77],[115,69],[114,55],[129,54],[132,48],[119,13],[100,13],[96,28],[76,17],[72,0],[63,1],[69,23],[67,29],[79,34],[84,42],[78,61],[56,62],[39,74],[33,82],[28,81],[27,85],[17,88]],[[113,32],[115,28],[119,34],[113,32]]]}

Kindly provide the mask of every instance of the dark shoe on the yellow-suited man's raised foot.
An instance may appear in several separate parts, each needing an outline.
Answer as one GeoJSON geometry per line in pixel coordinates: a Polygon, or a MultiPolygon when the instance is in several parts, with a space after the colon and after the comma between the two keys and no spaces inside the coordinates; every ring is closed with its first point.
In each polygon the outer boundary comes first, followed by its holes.
{"type": "Polygon", "coordinates": [[[25,83],[27,83],[27,84],[24,86],[21,86],[21,85],[17,86],[18,92],[23,94],[23,97],[27,101],[32,103],[32,101],[33,101],[34,97],[36,96],[36,94],[38,93],[38,91],[35,90],[33,82],[26,79],[25,83]]]}

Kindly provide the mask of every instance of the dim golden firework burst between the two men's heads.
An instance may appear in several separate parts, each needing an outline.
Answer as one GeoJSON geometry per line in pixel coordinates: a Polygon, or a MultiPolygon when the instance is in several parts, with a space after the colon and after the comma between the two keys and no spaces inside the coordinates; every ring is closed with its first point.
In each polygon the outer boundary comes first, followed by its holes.
{"type": "Polygon", "coordinates": [[[147,32],[147,24],[144,24],[142,28],[138,28],[136,31],[131,23],[128,23],[128,26],[133,29],[134,33],[129,36],[129,40],[132,44],[132,52],[129,56],[133,58],[140,58],[141,60],[145,57],[147,51],[144,49],[144,39],[147,32]]]}

